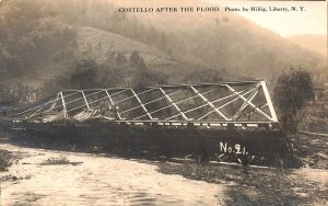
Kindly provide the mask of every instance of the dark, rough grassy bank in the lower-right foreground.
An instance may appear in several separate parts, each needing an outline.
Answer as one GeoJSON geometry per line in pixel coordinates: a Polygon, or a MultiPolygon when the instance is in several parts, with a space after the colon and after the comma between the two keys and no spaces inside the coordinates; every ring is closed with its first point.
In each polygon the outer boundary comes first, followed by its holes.
{"type": "Polygon", "coordinates": [[[327,185],[304,180],[289,170],[241,165],[201,165],[165,163],[159,167],[165,174],[179,174],[187,179],[215,184],[227,184],[222,205],[301,205],[328,199],[327,185]]]}

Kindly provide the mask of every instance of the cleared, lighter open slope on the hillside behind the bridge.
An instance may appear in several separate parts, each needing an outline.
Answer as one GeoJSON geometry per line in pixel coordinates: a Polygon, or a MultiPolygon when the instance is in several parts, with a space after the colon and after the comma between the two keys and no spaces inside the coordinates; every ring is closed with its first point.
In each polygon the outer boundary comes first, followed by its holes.
{"type": "MultiPolygon", "coordinates": [[[[189,61],[176,60],[173,56],[153,46],[94,27],[79,27],[78,45],[83,58],[91,57],[98,64],[104,64],[112,53],[121,53],[129,59],[130,55],[138,50],[150,69],[168,76],[169,83],[180,83],[194,72],[213,70],[204,64],[195,62],[192,59],[189,61]]],[[[227,71],[221,71],[221,75],[224,75],[224,79],[236,78],[227,71]]],[[[243,76],[238,76],[238,78],[241,77],[243,76]]]]}

